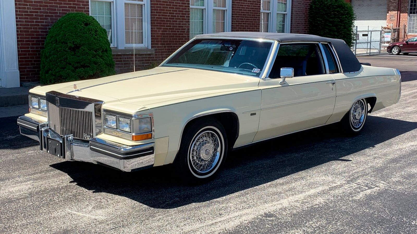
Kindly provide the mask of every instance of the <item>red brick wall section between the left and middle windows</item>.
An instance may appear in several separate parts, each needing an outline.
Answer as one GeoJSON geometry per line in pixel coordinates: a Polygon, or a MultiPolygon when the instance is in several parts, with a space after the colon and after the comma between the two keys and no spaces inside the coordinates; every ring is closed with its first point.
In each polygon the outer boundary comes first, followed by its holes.
{"type": "MultiPolygon", "coordinates": [[[[136,55],[136,70],[160,63],[189,40],[190,1],[151,0],[151,48],[153,55],[136,55]]],[[[133,71],[133,55],[113,55],[116,72],[133,71]]]]}

